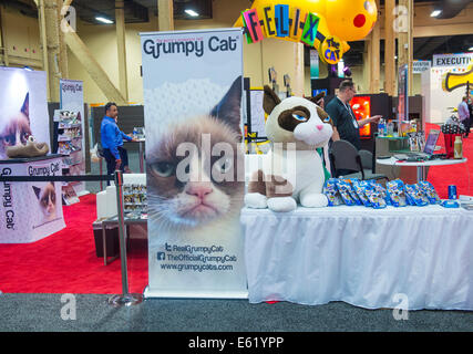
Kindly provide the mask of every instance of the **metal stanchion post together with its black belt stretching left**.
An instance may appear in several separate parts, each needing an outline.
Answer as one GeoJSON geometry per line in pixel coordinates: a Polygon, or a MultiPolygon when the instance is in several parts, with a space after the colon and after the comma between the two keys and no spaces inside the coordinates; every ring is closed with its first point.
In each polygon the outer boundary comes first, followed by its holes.
{"type": "Polygon", "coordinates": [[[123,211],[123,173],[115,171],[115,175],[86,175],[86,176],[0,176],[2,181],[35,183],[35,181],[103,181],[114,180],[116,186],[116,210],[119,217],[120,254],[122,259],[122,294],[113,295],[109,299],[109,304],[113,306],[135,305],[143,301],[142,294],[128,292],[128,272],[126,264],[125,223],[123,211]]]}

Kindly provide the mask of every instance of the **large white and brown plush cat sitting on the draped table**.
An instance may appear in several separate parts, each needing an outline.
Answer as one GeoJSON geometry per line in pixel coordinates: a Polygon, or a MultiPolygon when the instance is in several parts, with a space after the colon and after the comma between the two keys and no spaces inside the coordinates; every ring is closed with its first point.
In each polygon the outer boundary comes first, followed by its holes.
{"type": "Polygon", "coordinates": [[[263,106],[273,148],[263,168],[251,174],[245,205],[274,211],[291,211],[297,201],[302,207],[326,207],[323,164],[316,148],[327,147],[332,136],[330,117],[309,98],[280,101],[267,85],[263,106]]]}

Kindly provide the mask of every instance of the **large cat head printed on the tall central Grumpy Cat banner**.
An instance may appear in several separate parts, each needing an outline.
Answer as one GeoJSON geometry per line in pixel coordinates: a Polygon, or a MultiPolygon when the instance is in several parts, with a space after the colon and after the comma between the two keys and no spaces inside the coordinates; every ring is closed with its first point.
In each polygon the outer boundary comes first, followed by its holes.
{"type": "Polygon", "coordinates": [[[151,147],[146,168],[152,232],[177,236],[212,229],[224,235],[227,223],[238,219],[244,196],[244,183],[237,178],[240,102],[241,76],[208,114],[171,126],[151,147]],[[179,153],[186,144],[196,148],[179,153]],[[222,145],[232,154],[214,154],[222,145]],[[218,178],[222,174],[233,178],[218,178]]]}

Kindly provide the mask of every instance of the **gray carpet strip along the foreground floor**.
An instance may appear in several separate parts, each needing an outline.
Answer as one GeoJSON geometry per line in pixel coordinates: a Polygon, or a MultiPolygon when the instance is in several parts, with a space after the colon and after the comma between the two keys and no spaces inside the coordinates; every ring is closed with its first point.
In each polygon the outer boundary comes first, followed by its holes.
{"type": "Polygon", "coordinates": [[[4,332],[325,332],[473,331],[473,312],[411,311],[395,321],[392,310],[364,310],[343,302],[307,306],[245,300],[150,299],[112,308],[107,295],[76,295],[76,319],[61,319],[61,294],[0,294],[4,332]]]}

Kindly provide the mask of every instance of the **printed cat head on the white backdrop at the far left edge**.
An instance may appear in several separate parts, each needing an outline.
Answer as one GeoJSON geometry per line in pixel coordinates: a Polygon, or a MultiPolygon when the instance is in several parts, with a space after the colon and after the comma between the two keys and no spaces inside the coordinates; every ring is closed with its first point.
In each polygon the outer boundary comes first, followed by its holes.
{"type": "Polygon", "coordinates": [[[8,146],[25,145],[30,135],[30,94],[27,93],[18,113],[7,118],[0,132],[0,159],[7,158],[8,146]]]}

